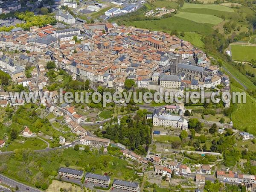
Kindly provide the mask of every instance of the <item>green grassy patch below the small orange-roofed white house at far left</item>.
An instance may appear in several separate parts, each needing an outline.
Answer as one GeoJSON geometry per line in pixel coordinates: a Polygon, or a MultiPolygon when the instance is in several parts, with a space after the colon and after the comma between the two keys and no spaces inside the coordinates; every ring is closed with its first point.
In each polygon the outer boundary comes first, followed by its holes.
{"type": "MultiPolygon", "coordinates": [[[[24,139],[24,138],[22,138],[24,139]]],[[[10,145],[6,147],[6,151],[14,151],[15,149],[26,148],[31,150],[38,150],[47,148],[47,144],[38,138],[26,138],[25,143],[19,143],[18,141],[13,141],[10,145]]]]}

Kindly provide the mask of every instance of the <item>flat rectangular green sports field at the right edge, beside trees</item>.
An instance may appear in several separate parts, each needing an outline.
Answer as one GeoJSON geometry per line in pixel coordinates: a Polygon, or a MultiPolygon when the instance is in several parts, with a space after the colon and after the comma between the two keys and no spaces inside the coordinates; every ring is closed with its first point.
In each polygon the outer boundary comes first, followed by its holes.
{"type": "Polygon", "coordinates": [[[256,59],[256,46],[231,45],[232,59],[236,61],[250,61],[256,59]]]}

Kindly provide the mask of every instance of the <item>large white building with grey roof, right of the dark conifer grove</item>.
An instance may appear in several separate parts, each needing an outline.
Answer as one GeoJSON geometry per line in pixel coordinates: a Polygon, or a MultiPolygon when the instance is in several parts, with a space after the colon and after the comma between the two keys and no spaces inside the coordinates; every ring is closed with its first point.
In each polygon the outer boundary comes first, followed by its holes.
{"type": "Polygon", "coordinates": [[[188,129],[188,121],[186,119],[183,119],[181,116],[169,115],[167,113],[158,115],[157,110],[154,110],[153,113],[153,125],[172,126],[181,128],[182,130],[188,129]]]}

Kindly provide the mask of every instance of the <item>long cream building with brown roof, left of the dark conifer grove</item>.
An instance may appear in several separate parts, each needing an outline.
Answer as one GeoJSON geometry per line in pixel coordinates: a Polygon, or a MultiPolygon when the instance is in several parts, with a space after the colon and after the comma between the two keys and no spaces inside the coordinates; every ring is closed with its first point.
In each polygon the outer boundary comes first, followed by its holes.
{"type": "Polygon", "coordinates": [[[80,140],[81,145],[90,145],[92,147],[108,147],[110,140],[99,137],[86,136],[80,140]]]}

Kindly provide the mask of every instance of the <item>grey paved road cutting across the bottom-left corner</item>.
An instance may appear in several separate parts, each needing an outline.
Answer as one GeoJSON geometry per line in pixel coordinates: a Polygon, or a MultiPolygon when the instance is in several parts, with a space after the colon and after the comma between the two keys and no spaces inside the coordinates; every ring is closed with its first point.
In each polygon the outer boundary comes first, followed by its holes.
{"type": "Polygon", "coordinates": [[[9,185],[14,188],[17,185],[19,187],[19,190],[18,190],[19,192],[41,192],[41,190],[39,190],[39,189],[35,189],[31,186],[27,186],[23,183],[16,181],[16,180],[12,180],[4,175],[0,175],[0,177],[1,177],[1,182],[5,183],[6,185],[9,185]]]}

